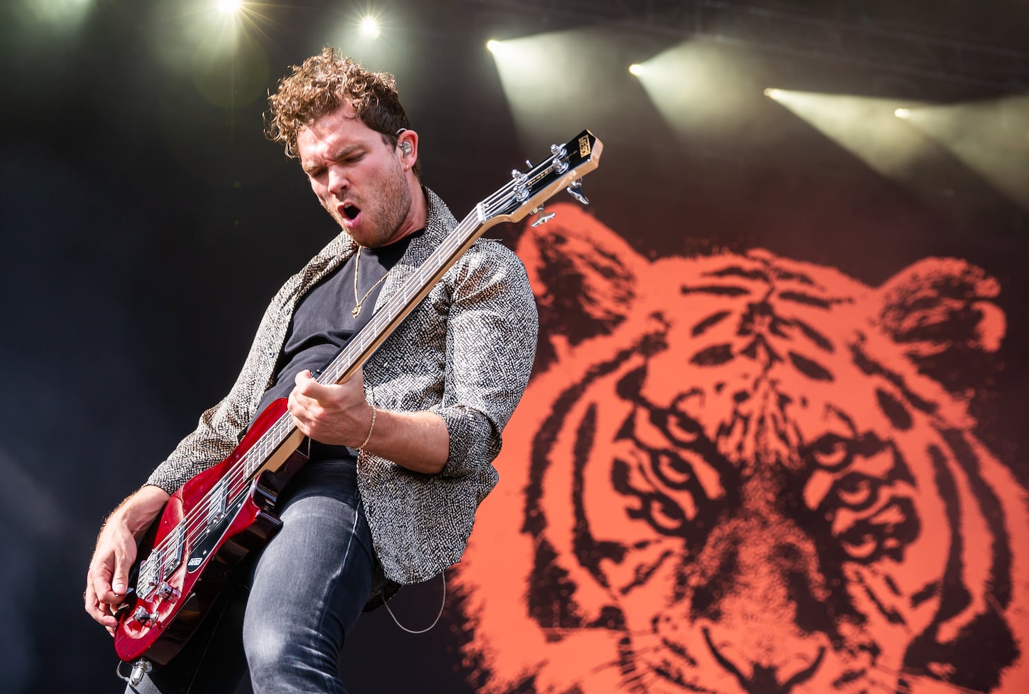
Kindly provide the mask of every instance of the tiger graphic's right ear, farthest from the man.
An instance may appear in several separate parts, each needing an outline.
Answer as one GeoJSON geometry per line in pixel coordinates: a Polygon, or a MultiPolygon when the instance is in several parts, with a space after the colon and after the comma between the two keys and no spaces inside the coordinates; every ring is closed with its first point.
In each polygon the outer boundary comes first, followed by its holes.
{"type": "Polygon", "coordinates": [[[974,390],[1006,332],[1000,284],[966,261],[928,257],[879,289],[881,325],[919,371],[951,392],[974,390]]]}

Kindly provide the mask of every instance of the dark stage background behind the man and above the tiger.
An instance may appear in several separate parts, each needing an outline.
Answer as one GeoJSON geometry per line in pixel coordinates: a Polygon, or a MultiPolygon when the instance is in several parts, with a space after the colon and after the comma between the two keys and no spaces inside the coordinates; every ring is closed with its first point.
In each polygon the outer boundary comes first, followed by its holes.
{"type": "MultiPolygon", "coordinates": [[[[526,158],[590,127],[605,144],[586,181],[591,209],[650,256],[766,247],[872,285],[927,255],[985,268],[1007,337],[986,378],[962,383],[958,369],[953,382],[974,390],[987,445],[1029,479],[1024,207],[946,158],[906,183],[885,178],[760,95],[1024,96],[1026,2],[397,0],[375,4],[388,24],[372,47],[352,29],[364,2],[264,4],[235,54],[204,24],[210,4],[0,9],[0,690],[119,689],[113,649],[79,598],[93,540],[227,390],[277,287],[336,233],[261,134],[267,91],[326,44],[396,74],[423,179],[458,217],[526,158]],[[603,50],[555,61],[516,109],[485,41],[564,30],[603,36],[603,50]],[[752,99],[721,132],[671,129],[625,69],[685,40],[769,80],[734,75],[725,93],[743,85],[752,99]],[[512,115],[534,108],[558,114],[545,139],[512,115]]],[[[1026,161],[1024,110],[997,133],[1008,142],[998,155],[1026,161]]],[[[513,242],[518,230],[493,235],[513,242]]],[[[438,593],[409,590],[396,612],[424,626],[438,593]]],[[[352,691],[470,691],[453,608],[421,636],[384,611],[362,619],[344,655],[352,691]]]]}

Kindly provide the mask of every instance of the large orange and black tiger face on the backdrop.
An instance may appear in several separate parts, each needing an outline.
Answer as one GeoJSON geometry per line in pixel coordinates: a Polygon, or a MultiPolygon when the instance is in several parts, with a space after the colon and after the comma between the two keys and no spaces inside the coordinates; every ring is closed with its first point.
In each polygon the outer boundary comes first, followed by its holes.
{"type": "Polygon", "coordinates": [[[936,376],[998,348],[995,281],[648,262],[572,206],[519,254],[544,366],[457,571],[476,691],[1025,691],[1025,489],[936,376]]]}

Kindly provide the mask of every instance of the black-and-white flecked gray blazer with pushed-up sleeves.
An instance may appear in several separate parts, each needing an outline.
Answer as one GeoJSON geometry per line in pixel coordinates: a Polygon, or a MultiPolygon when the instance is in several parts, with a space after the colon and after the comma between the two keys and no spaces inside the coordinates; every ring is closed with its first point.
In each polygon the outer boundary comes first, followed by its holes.
{"type": "MultiPolygon", "coordinates": [[[[396,293],[457,225],[442,201],[428,188],[425,194],[425,233],[412,238],[377,305],[396,293]]],[[[297,303],[356,250],[340,234],[286,281],[228,394],[201,415],[148,484],[174,492],[233,451],[274,382],[297,303]]],[[[450,432],[450,455],[437,475],[369,454],[358,461],[365,514],[390,580],[426,581],[461,558],[475,509],[497,483],[493,460],[529,380],[536,333],[536,305],[521,261],[496,241],[478,239],[364,365],[368,402],[387,410],[430,410],[450,432]]]]}

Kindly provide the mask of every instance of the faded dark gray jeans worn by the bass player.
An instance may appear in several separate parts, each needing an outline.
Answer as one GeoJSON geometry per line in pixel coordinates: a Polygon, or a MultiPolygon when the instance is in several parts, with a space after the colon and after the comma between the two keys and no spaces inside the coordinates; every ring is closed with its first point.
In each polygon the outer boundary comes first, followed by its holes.
{"type": "Polygon", "coordinates": [[[127,694],[345,693],[340,652],[382,582],[351,460],[309,462],[280,496],[282,529],[181,652],[127,694]]]}

